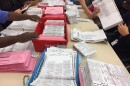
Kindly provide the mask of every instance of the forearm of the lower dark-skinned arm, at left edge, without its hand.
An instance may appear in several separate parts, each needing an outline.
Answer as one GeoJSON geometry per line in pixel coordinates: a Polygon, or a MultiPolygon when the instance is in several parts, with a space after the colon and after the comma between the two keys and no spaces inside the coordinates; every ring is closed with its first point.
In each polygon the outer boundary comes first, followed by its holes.
{"type": "Polygon", "coordinates": [[[0,37],[0,48],[12,45],[16,42],[19,42],[18,36],[0,37]]]}

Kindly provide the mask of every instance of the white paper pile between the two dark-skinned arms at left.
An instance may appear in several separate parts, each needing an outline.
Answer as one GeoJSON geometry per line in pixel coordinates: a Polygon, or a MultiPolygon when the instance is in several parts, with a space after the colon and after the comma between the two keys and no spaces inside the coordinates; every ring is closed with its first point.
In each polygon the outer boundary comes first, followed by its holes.
{"type": "Polygon", "coordinates": [[[11,30],[34,31],[38,22],[31,20],[14,21],[7,28],[11,30]]]}

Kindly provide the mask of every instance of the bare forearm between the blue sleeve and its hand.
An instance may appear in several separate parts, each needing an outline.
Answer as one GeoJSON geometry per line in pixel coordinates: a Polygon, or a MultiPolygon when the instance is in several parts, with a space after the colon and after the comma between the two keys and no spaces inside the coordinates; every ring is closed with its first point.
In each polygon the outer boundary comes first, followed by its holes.
{"type": "Polygon", "coordinates": [[[30,19],[30,16],[25,14],[15,13],[15,12],[8,13],[8,21],[20,21],[26,19],[30,19]]]}

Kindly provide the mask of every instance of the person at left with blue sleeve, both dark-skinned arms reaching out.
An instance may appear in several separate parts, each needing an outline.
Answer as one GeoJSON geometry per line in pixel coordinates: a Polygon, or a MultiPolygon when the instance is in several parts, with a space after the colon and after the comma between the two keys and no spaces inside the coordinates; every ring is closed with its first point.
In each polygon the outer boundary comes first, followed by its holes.
{"type": "MultiPolygon", "coordinates": [[[[38,22],[41,21],[40,17],[36,15],[24,15],[15,12],[7,12],[0,10],[0,23],[5,23],[6,21],[14,21],[14,20],[19,21],[25,19],[30,19],[32,21],[38,21],[38,22]]],[[[26,32],[17,36],[0,37],[0,48],[12,45],[16,42],[27,42],[37,37],[38,37],[37,34],[34,32],[26,32]]]]}

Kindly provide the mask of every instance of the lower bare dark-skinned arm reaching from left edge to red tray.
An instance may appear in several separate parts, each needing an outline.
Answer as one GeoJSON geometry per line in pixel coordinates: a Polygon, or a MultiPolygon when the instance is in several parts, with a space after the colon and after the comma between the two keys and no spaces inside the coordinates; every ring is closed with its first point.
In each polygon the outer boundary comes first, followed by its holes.
{"type": "Polygon", "coordinates": [[[17,42],[27,42],[29,40],[35,39],[38,36],[35,33],[32,32],[26,32],[21,35],[17,36],[6,36],[6,37],[0,37],[0,48],[12,45],[17,42]]]}

